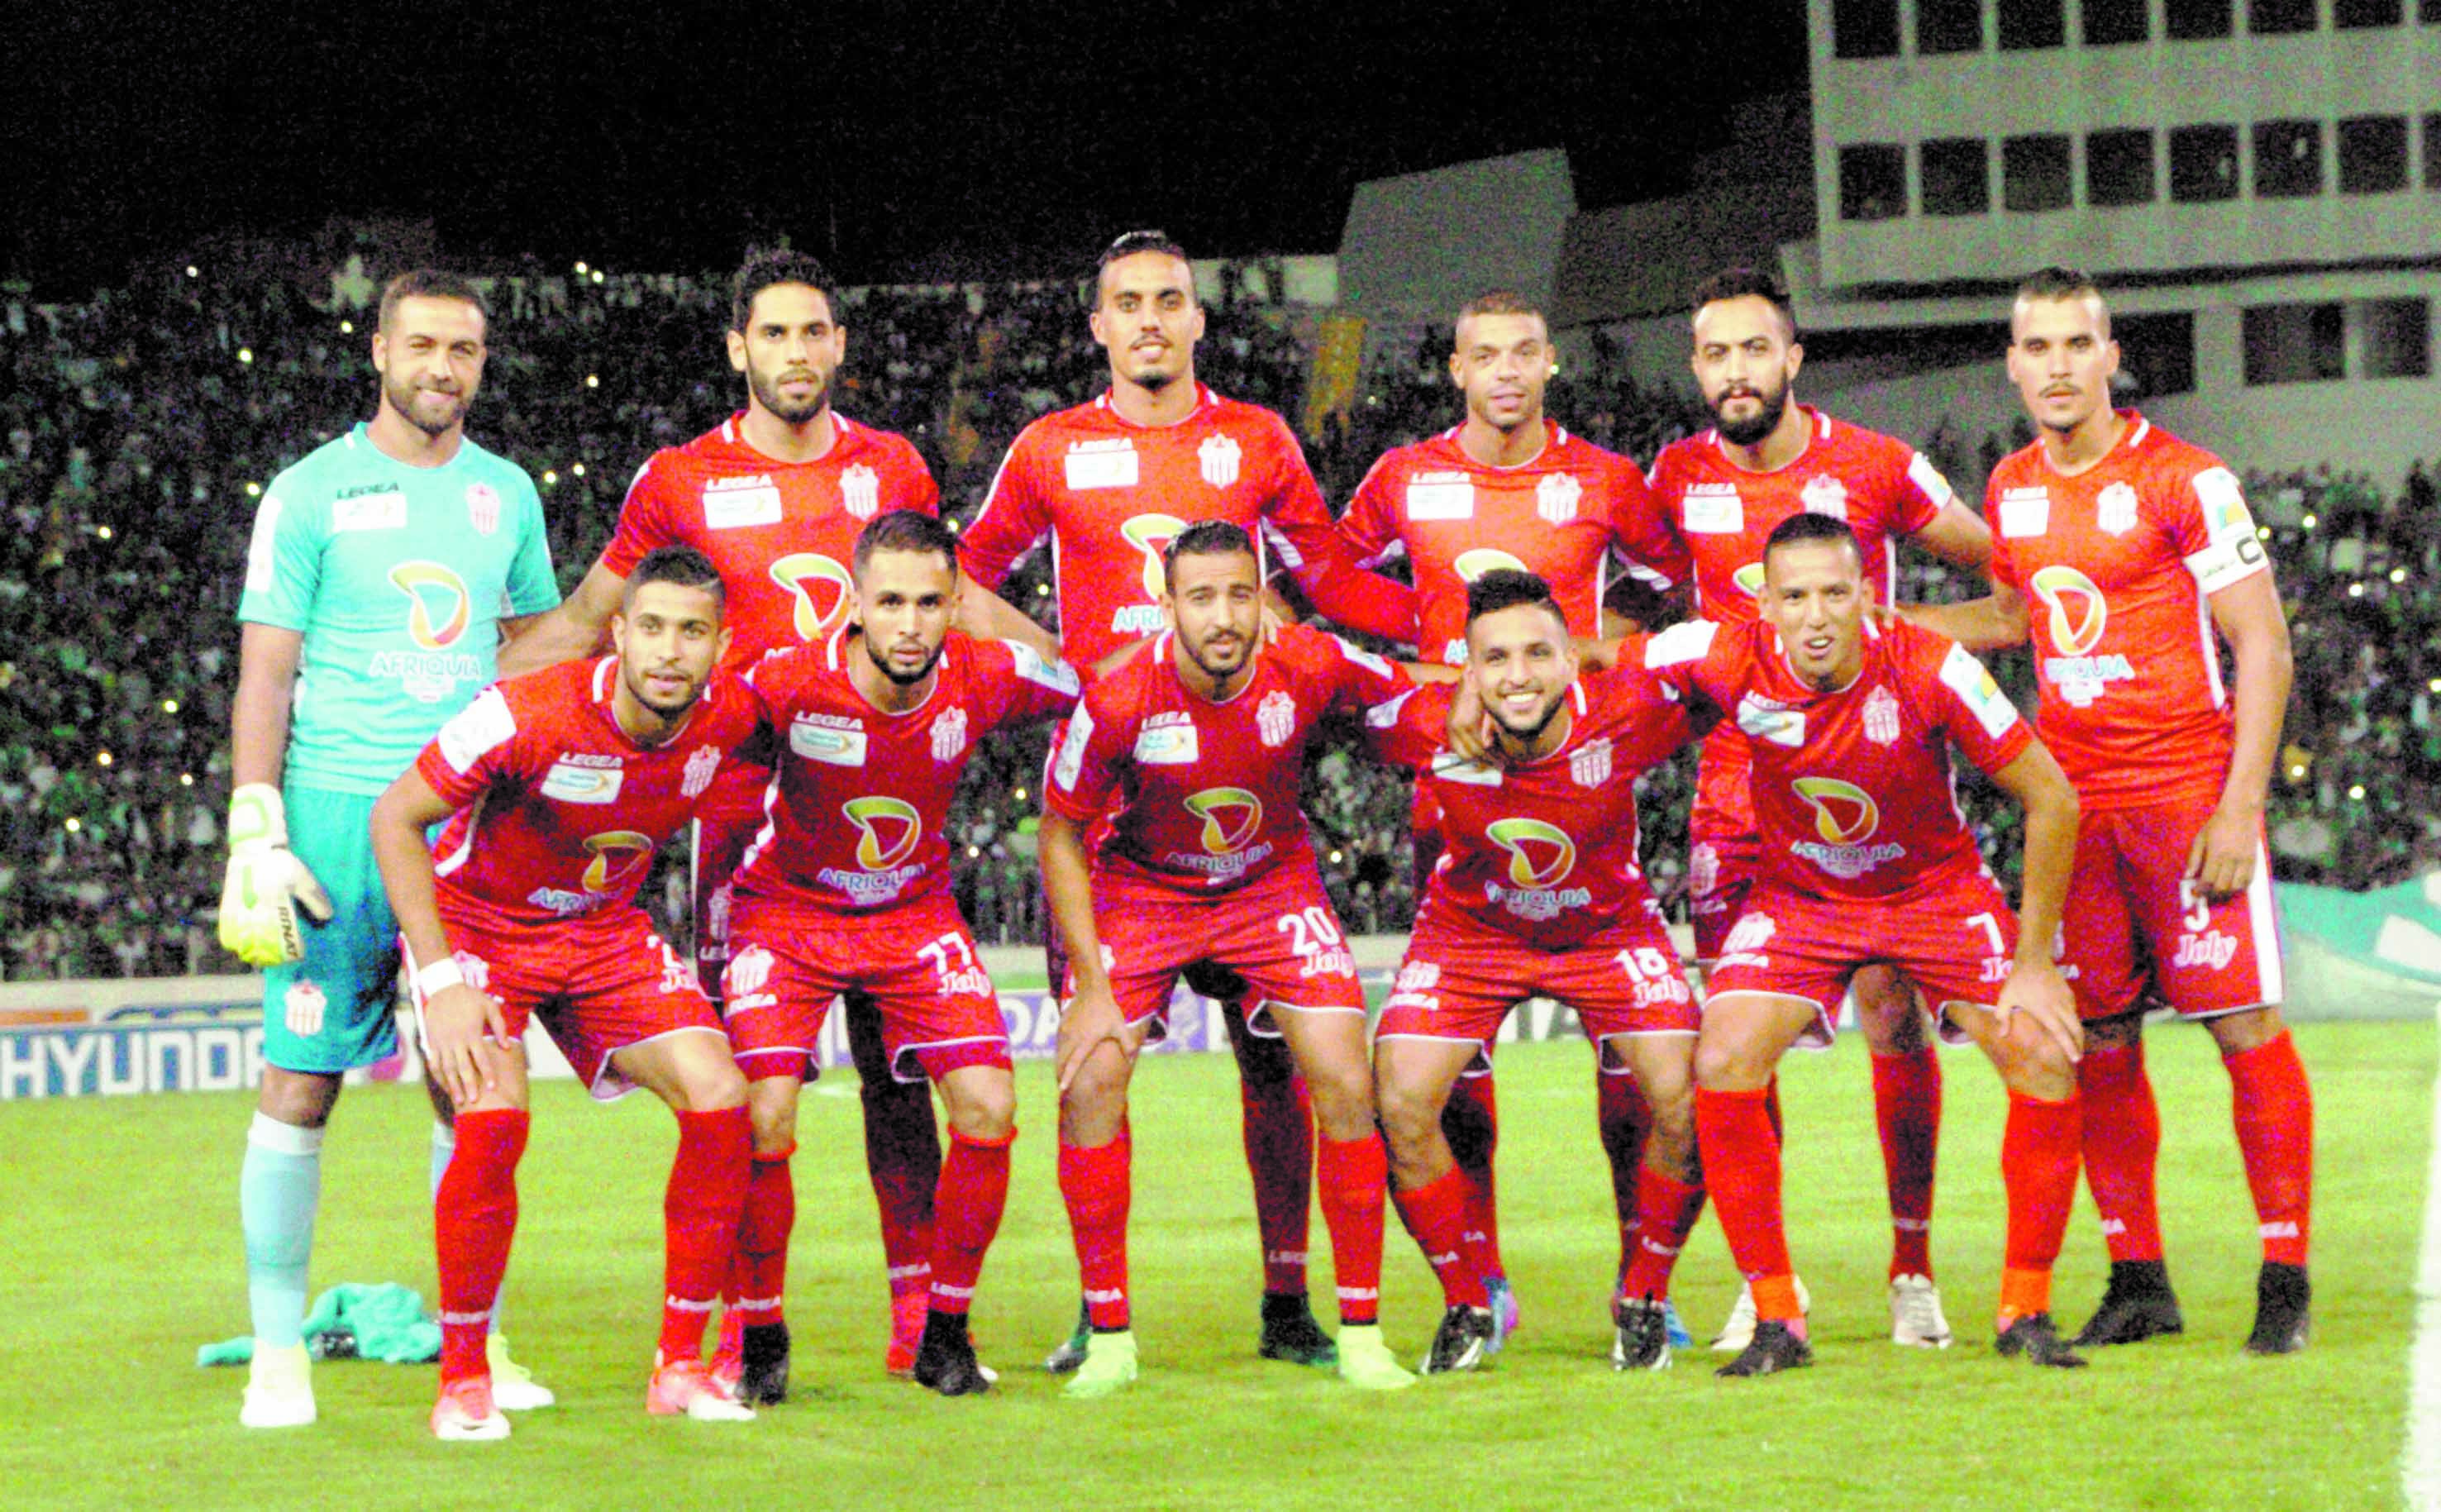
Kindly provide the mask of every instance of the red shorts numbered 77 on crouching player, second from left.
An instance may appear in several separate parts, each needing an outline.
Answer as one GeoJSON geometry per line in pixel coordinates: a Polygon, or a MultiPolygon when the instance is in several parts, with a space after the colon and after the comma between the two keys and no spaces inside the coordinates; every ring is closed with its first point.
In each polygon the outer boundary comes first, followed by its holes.
{"type": "Polygon", "coordinates": [[[723,1014],[747,1077],[813,1080],[823,1019],[842,992],[881,1009],[881,1048],[898,1082],[937,1082],[967,1065],[1008,1070],[1001,994],[950,896],[867,918],[737,899],[732,926],[723,1014]]]}

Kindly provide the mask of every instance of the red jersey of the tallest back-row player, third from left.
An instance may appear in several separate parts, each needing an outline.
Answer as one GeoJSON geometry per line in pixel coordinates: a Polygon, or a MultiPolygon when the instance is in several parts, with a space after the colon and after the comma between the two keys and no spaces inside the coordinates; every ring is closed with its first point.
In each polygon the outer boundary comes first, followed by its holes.
{"type": "Polygon", "coordinates": [[[1103,393],[1020,430],[959,537],[967,574],[998,589],[1047,537],[1062,652],[1094,667],[1162,628],[1162,547],[1194,520],[1230,520],[1255,535],[1264,572],[1286,567],[1333,620],[1413,638],[1416,596],[1347,554],[1289,425],[1196,393],[1177,425],[1130,425],[1103,393]]]}

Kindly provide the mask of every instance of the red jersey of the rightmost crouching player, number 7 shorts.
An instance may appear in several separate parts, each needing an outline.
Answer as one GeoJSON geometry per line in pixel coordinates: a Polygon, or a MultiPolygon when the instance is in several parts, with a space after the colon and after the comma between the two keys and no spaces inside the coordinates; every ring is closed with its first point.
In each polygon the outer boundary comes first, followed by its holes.
{"type": "Polygon", "coordinates": [[[1982,872],[1950,747],[1999,772],[2033,730],[1965,647],[1867,620],[1865,667],[1836,694],[1801,681],[1762,620],[1687,620],[1653,635],[1643,660],[1748,735],[1765,877],[1814,896],[1889,901],[1982,872]]]}

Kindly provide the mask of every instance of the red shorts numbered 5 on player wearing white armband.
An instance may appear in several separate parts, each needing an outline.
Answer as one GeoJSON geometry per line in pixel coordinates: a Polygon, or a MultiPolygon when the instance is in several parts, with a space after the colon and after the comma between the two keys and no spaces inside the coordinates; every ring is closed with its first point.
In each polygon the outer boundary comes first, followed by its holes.
{"type": "Polygon", "coordinates": [[[2182,1019],[2282,999],[2280,911],[2260,833],[2246,892],[2207,901],[2185,882],[2207,818],[2209,799],[2087,813],[2077,826],[2060,960],[2077,967],[2070,984],[2087,1019],[2138,1009],[2148,984],[2182,1019]]]}

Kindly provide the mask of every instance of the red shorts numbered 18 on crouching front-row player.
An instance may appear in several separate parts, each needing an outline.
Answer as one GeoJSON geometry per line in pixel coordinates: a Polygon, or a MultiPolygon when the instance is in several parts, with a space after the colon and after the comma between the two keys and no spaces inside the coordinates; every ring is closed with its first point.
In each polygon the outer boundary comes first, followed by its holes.
{"type": "MultiPolygon", "coordinates": [[[[1662,911],[1648,901],[1643,916],[1557,950],[1474,928],[1421,928],[1399,962],[1374,1038],[1469,1041],[1477,1045],[1472,1070],[1489,1070],[1491,1038],[1509,1009],[1528,997],[1577,1009],[1596,1048],[1621,1033],[1692,1036],[1699,1026],[1662,911]]],[[[1609,1055],[1601,1067],[1623,1070],[1609,1055]]]]}

